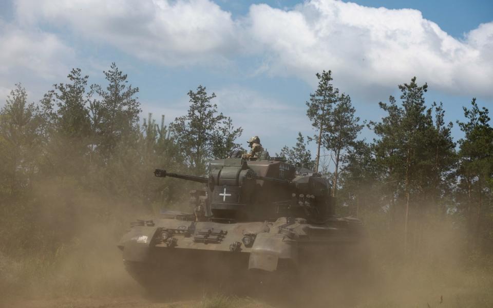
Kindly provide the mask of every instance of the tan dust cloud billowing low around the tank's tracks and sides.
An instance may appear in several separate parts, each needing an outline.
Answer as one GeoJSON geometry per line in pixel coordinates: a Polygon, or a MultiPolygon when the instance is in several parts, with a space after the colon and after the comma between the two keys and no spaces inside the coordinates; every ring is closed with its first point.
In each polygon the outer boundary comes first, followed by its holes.
{"type": "MultiPolygon", "coordinates": [[[[419,230],[419,238],[411,239],[420,244],[408,247],[406,253],[399,232],[367,221],[369,249],[359,257],[368,266],[342,267],[333,263],[330,269],[318,268],[315,274],[301,273],[290,281],[260,284],[238,292],[224,293],[220,287],[211,291],[220,285],[209,281],[207,291],[194,288],[177,298],[173,290],[163,290],[162,297],[150,298],[126,273],[116,246],[129,222],[149,216],[150,212],[139,213],[124,201],[108,201],[90,192],[49,184],[40,188],[39,194],[44,206],[38,209],[37,216],[49,226],[43,232],[50,232],[53,240],[63,244],[57,244],[54,251],[40,248],[39,252],[17,258],[0,255],[0,306],[493,306],[493,264],[479,256],[466,255],[460,229],[447,221],[439,227],[419,230]],[[73,221],[53,223],[49,217],[67,205],[67,195],[72,197],[71,210],[62,218],[72,217],[73,221]],[[70,239],[61,241],[60,235],[70,239]]],[[[34,234],[31,239],[35,241],[37,236],[40,235],[34,234]]],[[[163,279],[173,280],[180,272],[180,268],[170,269],[163,279]]]]}

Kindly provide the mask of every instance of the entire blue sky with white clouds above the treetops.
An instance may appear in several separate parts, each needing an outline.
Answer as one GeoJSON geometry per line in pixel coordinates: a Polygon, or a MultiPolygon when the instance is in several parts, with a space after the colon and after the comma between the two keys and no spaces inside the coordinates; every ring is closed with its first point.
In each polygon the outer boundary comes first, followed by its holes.
{"type": "Polygon", "coordinates": [[[380,119],[378,102],[416,75],[456,122],[472,97],[493,107],[491,50],[491,1],[0,1],[2,98],[21,82],[38,101],[71,67],[99,83],[114,61],[140,88],[143,116],[172,121],[201,84],[244,128],[240,141],[259,135],[271,154],[313,134],[317,71],[333,71],[362,120],[380,119]]]}

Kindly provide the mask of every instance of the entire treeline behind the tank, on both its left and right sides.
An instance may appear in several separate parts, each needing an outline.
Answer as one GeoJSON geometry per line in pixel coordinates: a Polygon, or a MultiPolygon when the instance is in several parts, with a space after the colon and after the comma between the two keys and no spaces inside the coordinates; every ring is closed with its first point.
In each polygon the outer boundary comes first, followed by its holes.
{"type": "MultiPolygon", "coordinates": [[[[8,96],[0,111],[0,252],[56,252],[88,219],[185,209],[191,184],[156,181],[154,168],[204,175],[208,160],[241,149],[242,129],[218,112],[215,94],[205,87],[188,92],[187,113],[169,126],[151,114],[141,123],[139,89],[114,63],[104,74],[105,85],[89,85],[88,76],[73,69],[36,104],[21,85],[8,96]]],[[[405,253],[425,251],[430,243],[421,231],[445,222],[463,229],[471,251],[491,252],[488,110],[475,99],[464,107],[457,122],[464,138],[454,141],[443,105],[426,104],[427,85],[415,78],[399,86],[399,100],[380,103],[381,121],[369,123],[356,116],[350,96],[333,87],[330,71],[317,78],[307,102],[315,134],[299,133],[278,156],[330,176],[339,213],[387,230],[405,253]],[[365,126],[375,140],[361,140],[365,126]],[[309,142],[317,144],[315,160],[309,142]]]]}

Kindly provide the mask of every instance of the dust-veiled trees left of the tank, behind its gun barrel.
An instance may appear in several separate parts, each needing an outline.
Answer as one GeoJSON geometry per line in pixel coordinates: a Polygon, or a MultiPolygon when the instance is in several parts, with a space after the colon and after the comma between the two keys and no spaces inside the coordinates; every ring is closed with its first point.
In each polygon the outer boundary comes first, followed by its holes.
{"type": "Polygon", "coordinates": [[[154,169],[203,175],[208,160],[238,147],[241,128],[205,87],[188,92],[188,112],[167,127],[164,116],[139,121],[139,88],[115,63],[104,75],[105,85],[89,85],[72,69],[37,104],[20,84],[8,95],[0,111],[0,257],[55,254],[91,221],[180,209],[190,184],[156,181],[154,169]]]}

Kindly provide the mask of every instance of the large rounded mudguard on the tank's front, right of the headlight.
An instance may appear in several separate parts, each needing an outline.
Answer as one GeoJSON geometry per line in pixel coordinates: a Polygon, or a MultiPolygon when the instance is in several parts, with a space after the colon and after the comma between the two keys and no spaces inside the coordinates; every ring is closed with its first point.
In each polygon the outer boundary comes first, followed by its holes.
{"type": "Polygon", "coordinates": [[[252,246],[249,269],[274,272],[279,259],[298,264],[298,243],[280,233],[259,233],[252,246]]]}

